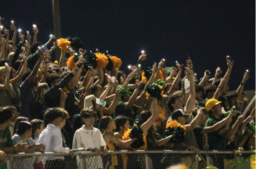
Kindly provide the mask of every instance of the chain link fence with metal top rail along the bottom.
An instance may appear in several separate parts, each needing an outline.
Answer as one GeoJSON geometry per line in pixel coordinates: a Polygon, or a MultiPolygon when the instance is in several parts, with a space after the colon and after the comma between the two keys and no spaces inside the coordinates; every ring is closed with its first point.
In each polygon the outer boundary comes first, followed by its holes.
{"type": "Polygon", "coordinates": [[[189,169],[203,169],[206,162],[218,169],[250,169],[253,154],[255,151],[236,155],[235,151],[201,151],[196,155],[193,151],[163,150],[108,151],[106,156],[76,152],[71,157],[64,153],[19,153],[7,155],[7,169],[166,169],[180,163],[189,169]]]}

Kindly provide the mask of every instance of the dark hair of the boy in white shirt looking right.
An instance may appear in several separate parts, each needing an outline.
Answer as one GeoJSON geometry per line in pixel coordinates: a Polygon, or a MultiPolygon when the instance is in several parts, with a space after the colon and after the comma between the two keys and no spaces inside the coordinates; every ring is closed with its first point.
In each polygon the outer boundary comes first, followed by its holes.
{"type": "Polygon", "coordinates": [[[58,117],[63,117],[64,111],[66,111],[63,108],[48,108],[44,112],[44,119],[48,122],[51,123],[53,122],[56,118],[58,117]]]}

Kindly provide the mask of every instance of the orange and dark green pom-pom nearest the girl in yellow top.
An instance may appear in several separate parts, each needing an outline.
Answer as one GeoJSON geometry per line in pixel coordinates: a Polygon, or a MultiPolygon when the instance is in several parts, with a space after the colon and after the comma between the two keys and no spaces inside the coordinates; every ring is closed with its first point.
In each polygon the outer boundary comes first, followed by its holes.
{"type": "Polygon", "coordinates": [[[129,140],[131,138],[137,138],[137,140],[131,144],[131,148],[138,150],[141,149],[143,145],[145,145],[146,137],[144,136],[141,127],[133,127],[131,130],[128,128],[128,130],[125,131],[123,141],[129,140]]]}

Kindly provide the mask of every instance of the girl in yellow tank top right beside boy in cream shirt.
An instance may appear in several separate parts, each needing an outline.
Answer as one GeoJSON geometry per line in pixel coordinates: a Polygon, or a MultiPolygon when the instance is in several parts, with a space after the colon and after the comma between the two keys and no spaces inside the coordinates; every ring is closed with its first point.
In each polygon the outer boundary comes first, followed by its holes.
{"type": "MultiPolygon", "coordinates": [[[[106,146],[109,151],[117,151],[115,147],[121,147],[121,149],[126,148],[136,140],[136,138],[132,138],[132,139],[123,141],[119,139],[116,135],[114,135],[112,131],[116,129],[115,119],[113,119],[110,116],[104,116],[100,119],[100,127],[105,130],[105,132],[103,133],[103,138],[106,142],[106,146]]],[[[122,158],[118,159],[118,156],[116,154],[109,155],[108,163],[106,164],[105,169],[113,169],[115,168],[115,166],[118,169],[122,169],[123,163],[124,162],[122,161],[122,158]]]]}

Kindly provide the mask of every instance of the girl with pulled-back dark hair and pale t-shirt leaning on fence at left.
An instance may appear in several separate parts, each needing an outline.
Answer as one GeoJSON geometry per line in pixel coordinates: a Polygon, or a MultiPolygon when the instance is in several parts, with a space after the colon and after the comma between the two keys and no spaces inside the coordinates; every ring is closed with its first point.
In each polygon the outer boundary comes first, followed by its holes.
{"type": "MultiPolygon", "coordinates": [[[[45,145],[43,143],[36,144],[34,140],[31,138],[31,136],[32,125],[29,122],[22,121],[19,122],[17,132],[12,137],[12,141],[14,144],[17,144],[18,142],[21,141],[23,141],[24,143],[28,143],[27,153],[32,153],[35,151],[40,151],[44,153],[45,145]]],[[[42,163],[40,156],[34,156],[24,159],[20,157],[14,157],[13,160],[15,169],[34,169],[34,165],[37,169],[42,169],[44,167],[44,164],[42,163]]]]}

